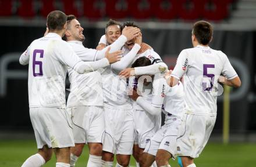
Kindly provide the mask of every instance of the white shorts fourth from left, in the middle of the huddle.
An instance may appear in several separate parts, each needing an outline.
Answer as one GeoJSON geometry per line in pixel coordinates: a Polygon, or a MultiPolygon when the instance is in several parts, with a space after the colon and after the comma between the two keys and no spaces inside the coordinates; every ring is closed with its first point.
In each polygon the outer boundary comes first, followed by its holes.
{"type": "Polygon", "coordinates": [[[151,115],[144,110],[134,110],[135,135],[134,143],[138,147],[145,148],[151,137],[155,135],[161,127],[161,113],[159,115],[151,115]]]}

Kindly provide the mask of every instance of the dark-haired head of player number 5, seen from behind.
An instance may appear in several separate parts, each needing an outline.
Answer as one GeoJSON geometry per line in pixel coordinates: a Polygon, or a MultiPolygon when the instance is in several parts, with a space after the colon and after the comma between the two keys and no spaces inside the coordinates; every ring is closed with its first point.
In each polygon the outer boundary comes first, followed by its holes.
{"type": "Polygon", "coordinates": [[[195,35],[197,41],[202,45],[207,45],[211,41],[213,33],[214,29],[207,21],[197,21],[193,25],[192,34],[195,35]]]}

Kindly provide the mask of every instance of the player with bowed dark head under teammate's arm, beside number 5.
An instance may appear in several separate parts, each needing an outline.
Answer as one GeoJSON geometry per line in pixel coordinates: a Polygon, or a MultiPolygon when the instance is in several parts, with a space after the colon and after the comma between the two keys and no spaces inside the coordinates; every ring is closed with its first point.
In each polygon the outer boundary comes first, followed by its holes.
{"type": "MultiPolygon", "coordinates": [[[[146,57],[140,57],[134,62],[133,67],[145,66],[147,61],[150,60],[146,57]]],[[[162,111],[165,114],[165,124],[148,140],[144,153],[140,155],[140,166],[151,166],[155,160],[157,166],[169,166],[168,160],[172,157],[175,158],[178,126],[184,110],[183,85],[180,82],[171,88],[167,85],[164,74],[161,73],[151,75],[151,77],[154,79],[152,79],[153,93],[150,101],[139,95],[141,88],[133,90],[130,97],[148,115],[161,115],[162,111]]],[[[144,118],[140,117],[140,121],[146,124],[148,120],[144,118]]]]}

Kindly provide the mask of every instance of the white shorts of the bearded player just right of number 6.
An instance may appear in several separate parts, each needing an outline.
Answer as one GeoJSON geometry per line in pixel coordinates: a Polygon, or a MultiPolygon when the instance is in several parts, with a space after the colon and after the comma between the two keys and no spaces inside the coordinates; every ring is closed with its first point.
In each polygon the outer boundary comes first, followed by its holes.
{"type": "Polygon", "coordinates": [[[101,106],[76,106],[66,109],[72,115],[74,143],[102,143],[105,131],[101,106]]]}

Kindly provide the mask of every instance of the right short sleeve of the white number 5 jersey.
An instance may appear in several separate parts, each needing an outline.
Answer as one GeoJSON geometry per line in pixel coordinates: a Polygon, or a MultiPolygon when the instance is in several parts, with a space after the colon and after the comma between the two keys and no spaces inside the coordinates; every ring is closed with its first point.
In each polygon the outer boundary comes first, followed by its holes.
{"type": "Polygon", "coordinates": [[[227,59],[227,56],[225,55],[225,53],[222,52],[222,55],[224,55],[224,62],[225,62],[223,64],[223,69],[221,72],[222,75],[229,80],[236,78],[238,75],[237,75],[236,71],[234,70],[234,68],[232,67],[232,65],[230,64],[229,59],[227,59]]]}

